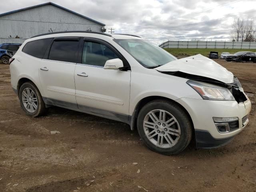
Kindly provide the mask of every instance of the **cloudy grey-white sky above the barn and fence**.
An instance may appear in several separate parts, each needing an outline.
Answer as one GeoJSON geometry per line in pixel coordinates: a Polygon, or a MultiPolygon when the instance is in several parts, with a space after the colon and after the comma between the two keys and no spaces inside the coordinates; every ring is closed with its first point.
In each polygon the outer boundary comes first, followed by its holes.
{"type": "MultiPolygon", "coordinates": [[[[1,0],[0,13],[49,0],[1,0]]],[[[256,20],[256,0],[52,0],[106,24],[116,33],[136,34],[156,44],[168,39],[229,40],[234,18],[256,20]]]]}

